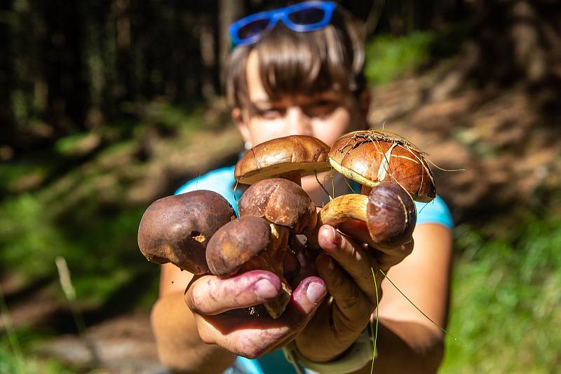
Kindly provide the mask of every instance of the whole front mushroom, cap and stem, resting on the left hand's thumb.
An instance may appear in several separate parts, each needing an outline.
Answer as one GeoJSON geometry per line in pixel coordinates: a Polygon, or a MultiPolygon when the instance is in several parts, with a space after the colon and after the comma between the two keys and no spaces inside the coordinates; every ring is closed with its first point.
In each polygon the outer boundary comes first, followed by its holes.
{"type": "Polygon", "coordinates": [[[273,318],[280,317],[292,293],[283,276],[288,230],[276,228],[258,216],[241,217],[217,230],[206,251],[210,272],[218,277],[250,270],[268,270],[278,275],[282,289],[276,298],[264,303],[273,318]]]}

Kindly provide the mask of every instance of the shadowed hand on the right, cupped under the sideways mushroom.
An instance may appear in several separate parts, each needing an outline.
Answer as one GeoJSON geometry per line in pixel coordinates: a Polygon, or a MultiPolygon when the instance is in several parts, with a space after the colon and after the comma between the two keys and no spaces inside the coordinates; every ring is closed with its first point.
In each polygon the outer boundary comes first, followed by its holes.
{"type": "MultiPolygon", "coordinates": [[[[342,226],[344,232],[354,237],[367,235],[360,223],[342,226]]],[[[325,281],[327,298],[297,337],[296,345],[302,355],[311,361],[326,362],[337,358],[353,342],[370,322],[377,307],[376,288],[372,270],[376,277],[378,298],[381,298],[380,264],[387,270],[403,261],[413,249],[413,243],[389,251],[377,251],[360,245],[341,235],[331,226],[322,226],[318,232],[318,243],[325,251],[316,258],[316,270],[325,281]]]]}

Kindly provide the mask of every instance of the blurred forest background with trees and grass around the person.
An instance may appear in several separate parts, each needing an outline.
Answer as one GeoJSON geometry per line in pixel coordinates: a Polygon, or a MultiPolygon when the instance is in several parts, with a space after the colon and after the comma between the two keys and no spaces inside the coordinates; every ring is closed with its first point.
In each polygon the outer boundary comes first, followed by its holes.
{"type": "MultiPolygon", "coordinates": [[[[227,26],[265,4],[285,2],[0,1],[0,373],[158,370],[138,223],[243,148],[221,97],[227,26]]],[[[456,223],[441,372],[553,373],[559,2],[344,6],[365,22],[372,127],[465,169],[435,169],[456,223]]]]}

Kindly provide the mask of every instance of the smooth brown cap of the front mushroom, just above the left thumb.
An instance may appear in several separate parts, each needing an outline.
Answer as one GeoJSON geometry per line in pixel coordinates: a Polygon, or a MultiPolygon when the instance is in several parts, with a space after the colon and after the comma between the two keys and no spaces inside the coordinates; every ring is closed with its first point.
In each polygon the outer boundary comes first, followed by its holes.
{"type": "Polygon", "coordinates": [[[210,272],[219,277],[236,274],[242,265],[271,244],[271,226],[257,216],[235,219],[210,238],[206,261],[210,272]]]}

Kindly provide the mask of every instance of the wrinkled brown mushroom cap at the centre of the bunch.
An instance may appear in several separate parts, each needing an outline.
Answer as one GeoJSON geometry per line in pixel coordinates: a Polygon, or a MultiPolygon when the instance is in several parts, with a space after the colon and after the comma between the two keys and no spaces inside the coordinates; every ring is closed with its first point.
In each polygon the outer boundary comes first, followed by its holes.
{"type": "Polygon", "coordinates": [[[253,183],[238,202],[240,216],[259,216],[302,234],[316,227],[316,205],[296,183],[273,178],[253,183]]]}

